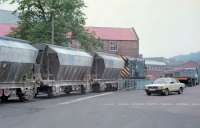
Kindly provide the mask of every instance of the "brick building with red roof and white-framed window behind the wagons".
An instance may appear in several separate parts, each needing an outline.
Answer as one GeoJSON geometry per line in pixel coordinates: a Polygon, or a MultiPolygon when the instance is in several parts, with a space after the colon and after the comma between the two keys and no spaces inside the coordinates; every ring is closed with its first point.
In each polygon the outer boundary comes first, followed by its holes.
{"type": "Polygon", "coordinates": [[[103,51],[139,57],[139,38],[134,28],[86,27],[103,42],[103,51]]]}

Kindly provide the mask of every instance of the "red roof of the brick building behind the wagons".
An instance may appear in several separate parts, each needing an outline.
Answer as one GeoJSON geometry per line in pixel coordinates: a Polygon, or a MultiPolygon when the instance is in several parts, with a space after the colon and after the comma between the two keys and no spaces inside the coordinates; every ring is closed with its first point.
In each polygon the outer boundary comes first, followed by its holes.
{"type": "Polygon", "coordinates": [[[86,27],[86,29],[102,40],[138,40],[138,36],[133,28],[86,27]]]}

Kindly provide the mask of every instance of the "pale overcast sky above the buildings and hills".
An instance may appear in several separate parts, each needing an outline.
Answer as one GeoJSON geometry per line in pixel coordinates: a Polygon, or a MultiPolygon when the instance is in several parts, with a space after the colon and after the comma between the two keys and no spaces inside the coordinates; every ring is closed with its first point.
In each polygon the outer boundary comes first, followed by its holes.
{"type": "MultiPolygon", "coordinates": [[[[134,27],[145,57],[200,51],[200,0],[85,0],[88,26],[134,27]]],[[[1,5],[0,8],[13,9],[1,5]]]]}

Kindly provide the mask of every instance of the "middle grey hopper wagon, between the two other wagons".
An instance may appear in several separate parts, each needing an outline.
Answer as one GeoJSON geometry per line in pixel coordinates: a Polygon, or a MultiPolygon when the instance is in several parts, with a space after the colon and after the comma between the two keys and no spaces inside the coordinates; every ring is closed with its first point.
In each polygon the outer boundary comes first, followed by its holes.
{"type": "Polygon", "coordinates": [[[40,81],[38,92],[49,96],[74,90],[84,93],[88,88],[93,61],[89,53],[49,44],[37,44],[35,47],[39,50],[36,64],[40,81]]]}

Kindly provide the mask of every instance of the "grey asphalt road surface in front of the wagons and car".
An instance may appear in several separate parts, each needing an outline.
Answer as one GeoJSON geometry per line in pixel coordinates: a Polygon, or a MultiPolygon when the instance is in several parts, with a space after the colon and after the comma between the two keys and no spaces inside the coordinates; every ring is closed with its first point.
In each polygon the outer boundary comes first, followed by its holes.
{"type": "Polygon", "coordinates": [[[0,104],[0,128],[200,128],[200,87],[170,96],[120,91],[13,100],[0,104]]]}

